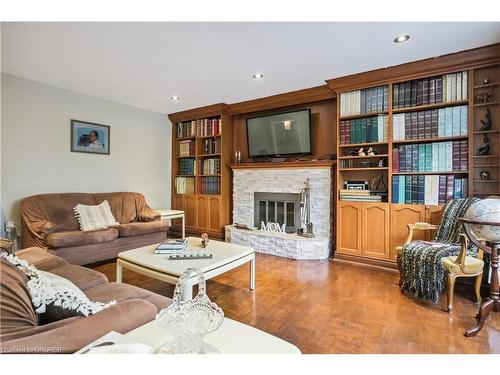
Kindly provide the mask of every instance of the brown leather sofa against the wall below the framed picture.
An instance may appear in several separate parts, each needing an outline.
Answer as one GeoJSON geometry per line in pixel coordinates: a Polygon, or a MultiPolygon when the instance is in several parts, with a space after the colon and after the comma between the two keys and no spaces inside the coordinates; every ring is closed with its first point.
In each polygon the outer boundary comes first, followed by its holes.
{"type": "Polygon", "coordinates": [[[40,194],[21,201],[22,247],[41,247],[72,264],[113,259],[120,251],[161,242],[168,224],[140,193],[40,194]],[[83,232],[73,208],[107,200],[120,225],[83,232]]]}

